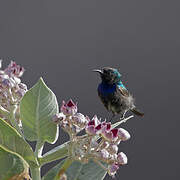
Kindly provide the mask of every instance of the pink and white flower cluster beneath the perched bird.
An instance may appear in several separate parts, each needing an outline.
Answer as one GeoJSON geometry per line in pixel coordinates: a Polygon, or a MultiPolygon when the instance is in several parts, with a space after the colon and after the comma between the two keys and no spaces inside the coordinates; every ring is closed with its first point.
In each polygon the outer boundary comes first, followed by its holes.
{"type": "Polygon", "coordinates": [[[127,157],[118,152],[121,141],[130,138],[123,128],[113,128],[110,122],[101,121],[95,115],[92,119],[77,110],[72,100],[63,101],[61,112],[53,117],[53,121],[68,132],[71,142],[70,156],[75,160],[87,163],[93,159],[104,168],[110,176],[114,176],[120,165],[127,164],[127,157]],[[79,135],[84,130],[85,135],[79,135]]]}

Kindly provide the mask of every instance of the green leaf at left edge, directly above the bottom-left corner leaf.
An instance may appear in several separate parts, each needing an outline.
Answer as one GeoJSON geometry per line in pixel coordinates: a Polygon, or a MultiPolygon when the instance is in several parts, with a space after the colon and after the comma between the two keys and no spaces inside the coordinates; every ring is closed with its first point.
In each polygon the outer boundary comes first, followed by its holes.
{"type": "Polygon", "coordinates": [[[0,119],[0,145],[22,156],[29,165],[38,165],[31,146],[15,128],[2,119],[0,119]]]}

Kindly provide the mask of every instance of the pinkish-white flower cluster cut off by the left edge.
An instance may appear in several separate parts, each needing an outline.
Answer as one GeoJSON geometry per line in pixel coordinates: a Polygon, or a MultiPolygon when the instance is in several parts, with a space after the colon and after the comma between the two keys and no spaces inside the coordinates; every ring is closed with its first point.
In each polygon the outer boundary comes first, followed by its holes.
{"type": "MultiPolygon", "coordinates": [[[[0,68],[1,64],[2,60],[0,60],[0,68]]],[[[20,100],[27,91],[27,86],[21,83],[20,79],[23,73],[24,68],[14,61],[11,61],[4,70],[0,70],[0,117],[5,120],[13,105],[17,105],[18,112],[20,100]]],[[[18,114],[17,119],[19,119],[18,114]]]]}

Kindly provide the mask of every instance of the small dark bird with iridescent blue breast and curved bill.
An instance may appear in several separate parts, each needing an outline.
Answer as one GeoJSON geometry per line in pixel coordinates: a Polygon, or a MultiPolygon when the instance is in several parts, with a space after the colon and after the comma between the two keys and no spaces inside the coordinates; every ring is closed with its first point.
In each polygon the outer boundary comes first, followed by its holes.
{"type": "Polygon", "coordinates": [[[98,96],[105,108],[112,112],[112,118],[120,115],[123,119],[128,111],[137,116],[144,116],[144,113],[136,108],[134,98],[122,83],[121,74],[117,69],[104,67],[102,70],[94,69],[93,71],[100,74],[102,81],[98,85],[98,96]]]}

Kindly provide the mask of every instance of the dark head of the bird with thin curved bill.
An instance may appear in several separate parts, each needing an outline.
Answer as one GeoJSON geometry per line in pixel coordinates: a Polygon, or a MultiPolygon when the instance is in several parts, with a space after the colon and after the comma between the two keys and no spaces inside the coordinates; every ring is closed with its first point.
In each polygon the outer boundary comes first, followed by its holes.
{"type": "Polygon", "coordinates": [[[121,74],[118,72],[117,69],[104,67],[102,70],[95,69],[94,72],[98,72],[101,76],[103,82],[108,84],[116,84],[120,81],[121,74]]]}

